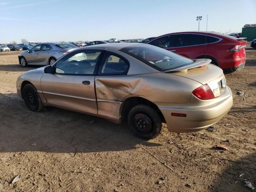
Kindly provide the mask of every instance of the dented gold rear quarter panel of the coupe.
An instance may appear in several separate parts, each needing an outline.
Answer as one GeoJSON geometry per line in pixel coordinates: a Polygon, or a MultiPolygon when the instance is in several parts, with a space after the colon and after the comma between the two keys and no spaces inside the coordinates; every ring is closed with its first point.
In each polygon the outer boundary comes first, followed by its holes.
{"type": "Polygon", "coordinates": [[[130,97],[153,103],[190,103],[192,91],[201,84],[168,73],[96,76],[98,115],[120,122],[122,103],[130,97]]]}

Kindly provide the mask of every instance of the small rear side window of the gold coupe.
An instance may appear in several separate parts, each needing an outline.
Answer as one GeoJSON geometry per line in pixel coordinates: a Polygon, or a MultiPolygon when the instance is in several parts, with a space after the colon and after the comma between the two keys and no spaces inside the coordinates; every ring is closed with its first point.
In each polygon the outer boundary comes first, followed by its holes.
{"type": "Polygon", "coordinates": [[[103,63],[98,71],[99,75],[123,75],[127,74],[129,68],[129,63],[127,60],[112,54],[110,52],[106,53],[103,58],[103,63]]]}

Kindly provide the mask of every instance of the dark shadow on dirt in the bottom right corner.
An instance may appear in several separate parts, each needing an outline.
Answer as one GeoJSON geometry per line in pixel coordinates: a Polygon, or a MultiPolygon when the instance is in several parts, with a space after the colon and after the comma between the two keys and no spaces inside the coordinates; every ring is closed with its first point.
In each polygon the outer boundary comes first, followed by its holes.
{"type": "Polygon", "coordinates": [[[256,188],[256,152],[237,161],[229,160],[230,166],[226,168],[215,182],[213,191],[253,191],[244,186],[248,181],[256,188]]]}

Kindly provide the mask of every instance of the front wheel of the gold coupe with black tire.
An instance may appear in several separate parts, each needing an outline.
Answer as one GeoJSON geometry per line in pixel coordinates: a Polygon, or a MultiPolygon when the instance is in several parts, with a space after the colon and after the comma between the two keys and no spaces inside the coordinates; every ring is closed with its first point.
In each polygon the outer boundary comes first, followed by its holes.
{"type": "Polygon", "coordinates": [[[26,106],[31,111],[41,111],[44,109],[44,105],[37,93],[36,88],[32,84],[26,84],[22,89],[22,97],[25,101],[26,106]]]}

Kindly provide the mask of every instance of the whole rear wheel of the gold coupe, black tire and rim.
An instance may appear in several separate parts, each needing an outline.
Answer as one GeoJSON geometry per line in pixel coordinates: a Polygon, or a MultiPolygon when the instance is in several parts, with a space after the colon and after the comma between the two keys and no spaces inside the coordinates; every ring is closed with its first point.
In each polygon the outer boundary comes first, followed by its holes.
{"type": "Polygon", "coordinates": [[[152,139],[162,130],[158,113],[147,105],[134,106],[128,114],[128,124],[133,132],[143,139],[152,139]]]}

